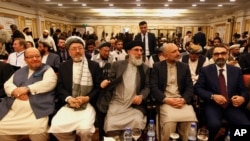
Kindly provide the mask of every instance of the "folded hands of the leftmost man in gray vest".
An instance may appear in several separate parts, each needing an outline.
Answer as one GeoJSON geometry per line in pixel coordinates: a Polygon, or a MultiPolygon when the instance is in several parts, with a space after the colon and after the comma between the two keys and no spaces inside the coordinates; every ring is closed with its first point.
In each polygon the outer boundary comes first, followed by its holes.
{"type": "Polygon", "coordinates": [[[29,99],[29,89],[27,87],[17,87],[13,90],[11,95],[20,100],[28,100],[29,99]]]}

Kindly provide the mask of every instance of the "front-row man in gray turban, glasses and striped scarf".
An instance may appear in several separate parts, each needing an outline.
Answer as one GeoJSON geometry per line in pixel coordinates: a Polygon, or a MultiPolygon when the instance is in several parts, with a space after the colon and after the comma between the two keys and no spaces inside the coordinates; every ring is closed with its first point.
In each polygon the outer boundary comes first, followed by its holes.
{"type": "Polygon", "coordinates": [[[59,67],[57,94],[64,105],[53,117],[49,132],[59,141],[90,141],[95,132],[93,103],[100,89],[101,70],[98,63],[84,56],[85,42],[71,36],[65,44],[72,60],[59,67]]]}

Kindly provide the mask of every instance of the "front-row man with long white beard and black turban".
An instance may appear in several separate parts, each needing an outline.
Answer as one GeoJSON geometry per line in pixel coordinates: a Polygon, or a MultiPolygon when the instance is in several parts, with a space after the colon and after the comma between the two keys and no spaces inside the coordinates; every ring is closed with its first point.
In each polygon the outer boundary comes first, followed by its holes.
{"type": "Polygon", "coordinates": [[[114,62],[110,79],[103,80],[97,107],[107,112],[104,131],[107,136],[119,136],[125,127],[144,129],[146,108],[143,100],[149,94],[149,68],[142,61],[143,43],[129,42],[125,49],[129,58],[114,62]]]}

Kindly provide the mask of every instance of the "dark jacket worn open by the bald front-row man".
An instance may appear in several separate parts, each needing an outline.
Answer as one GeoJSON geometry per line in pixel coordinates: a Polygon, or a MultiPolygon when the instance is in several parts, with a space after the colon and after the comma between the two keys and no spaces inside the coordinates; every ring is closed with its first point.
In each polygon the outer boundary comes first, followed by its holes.
{"type": "MultiPolygon", "coordinates": [[[[182,62],[176,63],[177,67],[177,84],[181,96],[187,104],[191,103],[193,97],[193,82],[189,66],[182,62]]],[[[150,77],[150,90],[158,103],[163,104],[163,99],[166,97],[164,91],[167,84],[167,62],[161,61],[153,65],[150,77]]]]}

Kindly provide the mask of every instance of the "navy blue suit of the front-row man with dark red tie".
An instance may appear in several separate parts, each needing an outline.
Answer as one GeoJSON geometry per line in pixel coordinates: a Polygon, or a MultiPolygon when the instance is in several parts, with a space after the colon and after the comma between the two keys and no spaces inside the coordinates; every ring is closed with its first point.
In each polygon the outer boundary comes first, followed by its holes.
{"type": "Polygon", "coordinates": [[[229,125],[250,125],[250,122],[243,112],[244,104],[234,107],[230,99],[234,95],[240,95],[248,101],[248,94],[244,86],[241,70],[237,67],[226,65],[227,94],[229,106],[223,108],[211,99],[212,94],[220,94],[218,71],[215,64],[202,68],[199,79],[194,86],[198,94],[206,103],[205,116],[207,127],[211,137],[214,137],[221,126],[221,119],[225,118],[229,125]]]}

